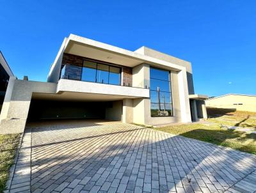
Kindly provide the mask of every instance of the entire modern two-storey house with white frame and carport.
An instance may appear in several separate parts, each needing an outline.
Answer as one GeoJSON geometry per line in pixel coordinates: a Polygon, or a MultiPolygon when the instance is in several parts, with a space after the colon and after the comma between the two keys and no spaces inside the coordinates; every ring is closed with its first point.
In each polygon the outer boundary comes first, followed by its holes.
{"type": "Polygon", "coordinates": [[[2,132],[22,132],[27,120],[104,118],[163,125],[207,116],[207,96],[195,95],[188,61],[76,35],[63,40],[47,82],[13,78],[8,91],[2,132]]]}

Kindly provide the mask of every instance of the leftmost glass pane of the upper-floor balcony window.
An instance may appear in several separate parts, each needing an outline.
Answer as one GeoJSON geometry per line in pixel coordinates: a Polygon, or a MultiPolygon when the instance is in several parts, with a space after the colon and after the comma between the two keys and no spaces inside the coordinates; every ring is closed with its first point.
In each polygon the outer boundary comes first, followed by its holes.
{"type": "Polygon", "coordinates": [[[95,82],[97,63],[92,61],[83,62],[82,81],[95,82]]]}

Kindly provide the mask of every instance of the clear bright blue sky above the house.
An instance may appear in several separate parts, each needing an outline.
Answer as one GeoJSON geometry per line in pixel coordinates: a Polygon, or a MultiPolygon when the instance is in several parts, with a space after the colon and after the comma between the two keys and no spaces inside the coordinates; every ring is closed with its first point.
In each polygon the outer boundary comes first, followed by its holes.
{"type": "Polygon", "coordinates": [[[15,75],[46,81],[70,33],[191,61],[195,92],[256,95],[256,1],[0,0],[0,50],[15,75]]]}

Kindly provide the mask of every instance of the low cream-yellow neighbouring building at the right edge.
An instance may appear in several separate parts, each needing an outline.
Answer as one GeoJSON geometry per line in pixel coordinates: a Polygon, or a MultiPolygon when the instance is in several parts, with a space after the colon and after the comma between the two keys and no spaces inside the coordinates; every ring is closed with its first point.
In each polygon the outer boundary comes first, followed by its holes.
{"type": "Polygon", "coordinates": [[[228,94],[205,100],[207,107],[256,112],[256,96],[228,94]]]}

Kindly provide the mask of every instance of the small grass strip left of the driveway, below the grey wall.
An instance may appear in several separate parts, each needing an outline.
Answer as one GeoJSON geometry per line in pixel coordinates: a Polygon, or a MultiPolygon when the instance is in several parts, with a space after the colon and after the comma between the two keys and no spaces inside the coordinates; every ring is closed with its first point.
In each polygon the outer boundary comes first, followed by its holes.
{"type": "Polygon", "coordinates": [[[19,134],[0,135],[0,192],[5,189],[18,144],[19,134]]]}

